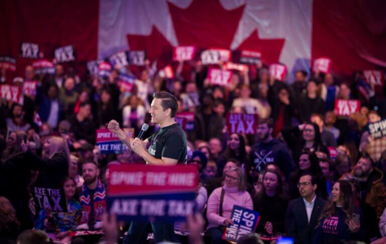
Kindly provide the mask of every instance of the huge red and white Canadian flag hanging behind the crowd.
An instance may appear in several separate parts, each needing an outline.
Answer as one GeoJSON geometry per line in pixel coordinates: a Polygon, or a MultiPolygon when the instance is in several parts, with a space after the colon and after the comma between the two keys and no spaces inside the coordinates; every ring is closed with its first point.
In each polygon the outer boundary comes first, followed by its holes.
{"type": "MultiPolygon", "coordinates": [[[[159,64],[172,48],[251,50],[290,74],[320,57],[332,71],[386,67],[386,2],[381,0],[0,0],[0,56],[17,58],[22,42],[46,58],[73,45],[76,67],[122,50],[146,50],[159,64]]],[[[289,76],[291,80],[292,76],[289,76]]]]}

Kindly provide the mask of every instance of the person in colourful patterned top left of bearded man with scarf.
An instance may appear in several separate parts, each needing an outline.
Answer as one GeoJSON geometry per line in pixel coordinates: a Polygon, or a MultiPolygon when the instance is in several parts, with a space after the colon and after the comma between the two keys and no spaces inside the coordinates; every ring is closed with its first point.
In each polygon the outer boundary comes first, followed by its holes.
{"type": "Polygon", "coordinates": [[[63,188],[67,212],[53,212],[41,209],[36,220],[35,229],[43,229],[48,232],[51,239],[68,243],[71,240],[70,233],[76,229],[82,213],[80,203],[74,199],[75,181],[70,177],[65,177],[63,188]]]}

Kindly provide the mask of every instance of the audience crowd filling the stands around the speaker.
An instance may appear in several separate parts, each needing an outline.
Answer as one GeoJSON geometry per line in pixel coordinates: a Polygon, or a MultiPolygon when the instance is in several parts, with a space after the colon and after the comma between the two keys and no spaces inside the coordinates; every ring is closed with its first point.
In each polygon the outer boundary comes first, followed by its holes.
{"type": "Polygon", "coordinates": [[[35,74],[32,66],[23,78],[7,80],[2,72],[2,82],[38,86],[36,94],[23,95],[23,104],[5,98],[0,104],[0,242],[96,243],[111,232],[124,241],[127,223],[106,224],[114,222],[104,215],[107,166],[145,161],[130,150],[101,154],[95,132],[116,120],[138,135],[148,123],[147,138],[158,129],[148,113],[152,95],[167,91],[177,99],[177,113],[195,115],[194,129],[185,131],[187,163],[200,173],[201,214],[188,217],[196,225],[175,223],[174,241],[186,242],[181,233],[190,231],[192,243],[225,242],[222,233],[234,224],[231,211],[239,205],[261,217],[259,237],[240,243],[271,243],[282,235],[295,243],[386,243],[386,137],[374,138],[368,126],[386,113],[383,91],[370,85],[365,96],[359,72],[339,80],[299,70],[290,85],[258,63],[214,86],[201,62],[173,67],[170,79],[149,65],[115,67],[106,76],[79,77],[62,64],[54,75],[35,74]],[[131,91],[118,86],[120,73],[137,77],[131,91]],[[336,99],[360,100],[359,112],[338,116],[336,99]],[[229,112],[257,114],[255,133],[232,133],[229,112]],[[64,189],[67,212],[36,205],[33,186],[41,184],[64,189]]]}

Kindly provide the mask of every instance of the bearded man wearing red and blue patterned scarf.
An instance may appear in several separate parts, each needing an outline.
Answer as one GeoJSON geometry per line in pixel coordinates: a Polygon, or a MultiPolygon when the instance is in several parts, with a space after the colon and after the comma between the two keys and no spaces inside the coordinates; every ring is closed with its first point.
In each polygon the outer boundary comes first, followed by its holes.
{"type": "Polygon", "coordinates": [[[84,184],[80,188],[79,197],[82,217],[76,229],[87,230],[91,234],[77,236],[71,243],[96,243],[103,236],[100,230],[103,227],[102,215],[106,211],[106,191],[98,177],[99,174],[100,171],[95,162],[88,161],[82,165],[84,184]]]}

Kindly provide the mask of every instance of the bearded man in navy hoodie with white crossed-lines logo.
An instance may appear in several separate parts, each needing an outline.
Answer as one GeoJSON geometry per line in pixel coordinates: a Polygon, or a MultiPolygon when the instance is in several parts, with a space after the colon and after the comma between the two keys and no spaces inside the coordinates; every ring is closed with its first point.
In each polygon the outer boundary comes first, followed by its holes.
{"type": "Polygon", "coordinates": [[[251,165],[257,170],[265,170],[268,164],[276,164],[288,179],[295,170],[294,160],[287,145],[272,137],[272,119],[260,119],[257,125],[255,143],[250,152],[251,165]]]}

